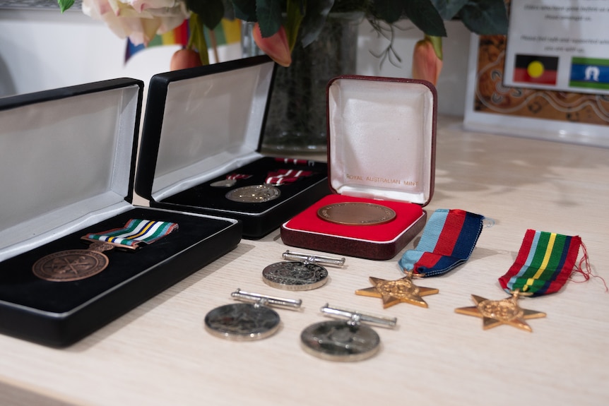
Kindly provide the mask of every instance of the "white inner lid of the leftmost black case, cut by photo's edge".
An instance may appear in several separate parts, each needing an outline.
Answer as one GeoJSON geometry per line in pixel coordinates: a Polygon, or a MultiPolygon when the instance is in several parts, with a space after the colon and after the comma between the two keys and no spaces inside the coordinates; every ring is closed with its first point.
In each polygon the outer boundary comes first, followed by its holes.
{"type": "Polygon", "coordinates": [[[138,89],[0,111],[0,261],[132,207],[138,89]]]}

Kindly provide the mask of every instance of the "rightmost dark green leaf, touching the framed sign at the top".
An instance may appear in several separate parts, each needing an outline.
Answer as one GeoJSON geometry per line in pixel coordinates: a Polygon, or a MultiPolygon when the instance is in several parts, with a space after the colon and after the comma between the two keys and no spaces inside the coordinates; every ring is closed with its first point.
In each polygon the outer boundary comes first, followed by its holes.
{"type": "Polygon", "coordinates": [[[504,0],[470,0],[459,17],[468,30],[479,35],[507,35],[504,0]]]}

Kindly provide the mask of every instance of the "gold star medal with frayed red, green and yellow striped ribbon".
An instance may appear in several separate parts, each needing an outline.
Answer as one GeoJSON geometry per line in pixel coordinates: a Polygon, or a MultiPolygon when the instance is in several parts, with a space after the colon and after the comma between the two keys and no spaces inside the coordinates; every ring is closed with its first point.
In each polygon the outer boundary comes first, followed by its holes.
{"type": "Polygon", "coordinates": [[[499,284],[512,297],[489,300],[472,294],[475,306],[455,309],[456,313],[482,318],[485,330],[507,324],[532,331],[526,320],[545,317],[545,313],[522,309],[518,304],[519,297],[558,292],[574,270],[578,270],[575,263],[581,245],[578,236],[528,229],[516,261],[505,275],[499,277],[499,284]]]}

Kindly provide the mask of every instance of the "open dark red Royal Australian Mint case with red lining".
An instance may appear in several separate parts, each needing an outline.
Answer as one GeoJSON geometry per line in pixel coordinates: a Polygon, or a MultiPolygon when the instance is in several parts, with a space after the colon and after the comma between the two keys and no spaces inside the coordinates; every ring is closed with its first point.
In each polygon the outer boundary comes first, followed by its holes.
{"type": "Polygon", "coordinates": [[[394,258],[425,227],[422,207],[434,190],[436,90],[423,80],[340,76],[326,96],[333,193],[285,222],[281,239],[340,255],[394,258]],[[382,205],[395,217],[353,225],[328,221],[332,210],[322,209],[353,202],[382,205]]]}

